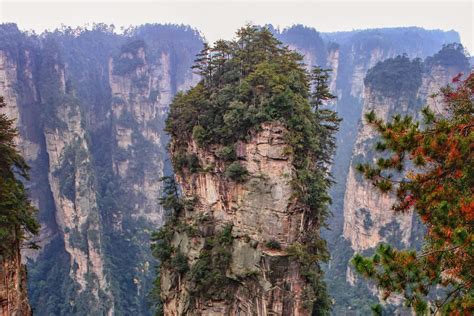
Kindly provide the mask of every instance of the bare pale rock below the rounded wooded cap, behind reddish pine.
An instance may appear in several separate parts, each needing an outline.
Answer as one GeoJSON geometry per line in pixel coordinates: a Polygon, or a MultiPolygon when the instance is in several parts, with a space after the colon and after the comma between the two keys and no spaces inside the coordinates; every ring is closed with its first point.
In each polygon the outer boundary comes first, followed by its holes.
{"type": "MultiPolygon", "coordinates": [[[[413,97],[387,97],[383,91],[366,88],[363,111],[368,113],[374,110],[379,117],[388,120],[395,113],[406,113],[409,109],[415,112],[413,104],[410,104],[413,97]]],[[[389,210],[395,201],[394,197],[374,190],[372,184],[355,171],[357,163],[372,161],[375,142],[373,128],[362,123],[347,176],[343,228],[343,236],[351,242],[352,249],[358,252],[373,248],[382,241],[389,241],[388,238],[397,240],[398,245],[410,245],[412,215],[391,213],[389,210]]]]}

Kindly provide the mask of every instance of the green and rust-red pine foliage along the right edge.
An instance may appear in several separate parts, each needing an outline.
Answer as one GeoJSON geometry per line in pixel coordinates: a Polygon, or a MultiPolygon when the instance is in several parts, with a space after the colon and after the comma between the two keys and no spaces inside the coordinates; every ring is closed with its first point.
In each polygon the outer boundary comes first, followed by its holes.
{"type": "Polygon", "coordinates": [[[440,91],[445,113],[425,108],[423,124],[409,116],[384,122],[366,115],[382,139],[376,149],[390,156],[359,171],[382,192],[396,194],[395,212],[414,210],[427,233],[421,252],[381,245],[374,256],[356,255],[353,263],[385,297],[403,294],[418,314],[474,312],[474,74],[460,78],[440,91]],[[428,302],[436,286],[445,293],[428,302]]]}

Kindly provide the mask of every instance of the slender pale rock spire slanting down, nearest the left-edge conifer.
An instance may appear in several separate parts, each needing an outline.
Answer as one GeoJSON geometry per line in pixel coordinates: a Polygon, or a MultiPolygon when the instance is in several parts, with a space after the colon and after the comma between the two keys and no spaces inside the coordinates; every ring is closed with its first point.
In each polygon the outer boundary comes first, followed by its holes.
{"type": "Polygon", "coordinates": [[[46,128],[45,140],[49,185],[56,206],[56,223],[71,260],[70,277],[79,284],[79,293],[91,292],[96,304],[102,300],[109,306],[105,313],[111,315],[113,297],[105,276],[97,188],[78,105],[63,104],[57,116],[65,126],[46,128]]]}

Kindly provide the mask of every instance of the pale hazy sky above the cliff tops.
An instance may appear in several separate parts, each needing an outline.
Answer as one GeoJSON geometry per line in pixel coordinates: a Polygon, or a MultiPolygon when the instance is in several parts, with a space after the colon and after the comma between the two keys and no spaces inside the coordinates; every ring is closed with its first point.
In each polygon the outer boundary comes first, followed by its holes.
{"type": "Polygon", "coordinates": [[[105,22],[117,27],[148,22],[183,23],[209,41],[230,39],[247,22],[284,28],[305,24],[319,31],[420,26],[456,30],[474,52],[473,0],[0,0],[0,21],[42,32],[61,24],[105,22]]]}

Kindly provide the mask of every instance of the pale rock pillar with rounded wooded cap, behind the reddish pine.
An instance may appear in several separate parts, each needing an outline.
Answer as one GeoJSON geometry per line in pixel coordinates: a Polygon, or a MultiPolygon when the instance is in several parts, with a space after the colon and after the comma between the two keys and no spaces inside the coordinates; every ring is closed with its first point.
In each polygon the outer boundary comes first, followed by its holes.
{"type": "MultiPolygon", "coordinates": [[[[395,113],[415,114],[420,111],[422,101],[418,90],[423,81],[422,68],[418,60],[410,61],[399,56],[370,69],[364,80],[363,113],[374,111],[378,117],[389,120],[395,113]],[[399,70],[397,75],[394,69],[399,70]]],[[[395,240],[398,246],[410,244],[412,216],[387,211],[391,209],[394,197],[373,190],[371,184],[355,171],[356,164],[376,159],[373,153],[376,141],[375,131],[363,121],[352,152],[344,198],[343,236],[358,252],[389,239],[395,240]]]]}

